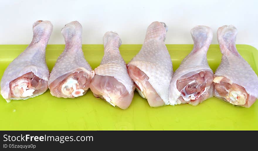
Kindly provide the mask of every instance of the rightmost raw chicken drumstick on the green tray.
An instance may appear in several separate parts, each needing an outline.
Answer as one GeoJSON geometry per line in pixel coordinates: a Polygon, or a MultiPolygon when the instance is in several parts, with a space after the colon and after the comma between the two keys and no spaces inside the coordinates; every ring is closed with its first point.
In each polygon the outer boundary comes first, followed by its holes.
{"type": "Polygon", "coordinates": [[[236,35],[237,29],[232,25],[217,31],[222,59],[214,74],[214,96],[233,105],[250,107],[258,97],[258,77],[237,52],[236,35]]]}

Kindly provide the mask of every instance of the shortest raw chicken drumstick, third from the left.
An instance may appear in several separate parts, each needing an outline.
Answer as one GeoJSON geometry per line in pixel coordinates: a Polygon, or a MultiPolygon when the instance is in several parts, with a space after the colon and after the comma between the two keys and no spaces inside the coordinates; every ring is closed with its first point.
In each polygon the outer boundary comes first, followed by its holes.
{"type": "Polygon", "coordinates": [[[134,94],[126,63],[119,52],[121,39],[116,32],[106,32],[103,36],[104,56],[95,71],[90,89],[95,97],[105,99],[113,106],[126,109],[134,94]]]}

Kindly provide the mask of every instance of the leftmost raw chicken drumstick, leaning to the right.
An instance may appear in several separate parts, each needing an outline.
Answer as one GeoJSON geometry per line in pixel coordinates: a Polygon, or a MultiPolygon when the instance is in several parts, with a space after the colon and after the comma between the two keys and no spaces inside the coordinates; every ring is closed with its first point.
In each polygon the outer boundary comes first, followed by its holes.
{"type": "Polygon", "coordinates": [[[4,71],[1,95],[7,102],[35,97],[47,90],[49,70],[45,51],[52,29],[50,21],[36,21],[32,42],[4,71]]]}

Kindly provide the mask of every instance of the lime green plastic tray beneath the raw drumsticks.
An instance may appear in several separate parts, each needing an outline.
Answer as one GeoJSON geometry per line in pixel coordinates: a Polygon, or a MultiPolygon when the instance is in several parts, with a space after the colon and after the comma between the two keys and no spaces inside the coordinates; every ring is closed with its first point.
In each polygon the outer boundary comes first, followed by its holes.
{"type": "MultiPolygon", "coordinates": [[[[0,78],[9,63],[27,45],[0,45],[0,78]]],[[[47,66],[50,71],[65,45],[48,45],[47,66]]],[[[192,50],[192,44],[168,44],[174,71],[192,50]]],[[[103,57],[103,45],[83,45],[84,56],[94,69],[103,57]]],[[[121,45],[120,52],[128,63],[141,45],[121,45]]],[[[249,45],[237,45],[239,53],[258,72],[258,51],[249,45]]],[[[208,50],[213,71],[220,64],[217,44],[208,50]]],[[[135,92],[126,110],[97,99],[89,90],[75,99],[56,98],[47,90],[43,95],[11,103],[0,96],[0,130],[258,130],[258,102],[250,108],[235,107],[210,98],[196,107],[189,104],[152,108],[135,92]]]]}

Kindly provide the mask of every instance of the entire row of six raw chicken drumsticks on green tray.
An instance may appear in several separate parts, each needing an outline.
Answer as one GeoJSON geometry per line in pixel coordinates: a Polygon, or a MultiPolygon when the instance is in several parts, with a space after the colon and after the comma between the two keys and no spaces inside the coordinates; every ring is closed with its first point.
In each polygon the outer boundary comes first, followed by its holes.
{"type": "Polygon", "coordinates": [[[222,60],[214,74],[207,61],[213,37],[211,28],[196,26],[191,30],[193,50],[173,73],[164,44],[167,26],[157,21],[147,28],[140,52],[128,64],[119,52],[119,35],[106,32],[104,56],[94,70],[82,52],[82,25],[78,21],[68,23],[62,28],[65,50],[49,74],[45,48],[52,28],[50,21],[36,21],[32,42],[6,68],[1,79],[1,95],[7,102],[38,96],[48,88],[53,96],[64,98],[80,97],[90,88],[95,97],[121,109],[129,107],[135,88],[151,107],[197,105],[213,96],[250,107],[258,97],[258,77],[237,52],[237,30],[232,25],[217,31],[222,60]]]}

